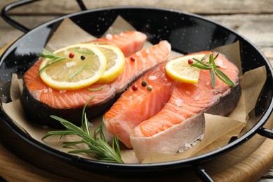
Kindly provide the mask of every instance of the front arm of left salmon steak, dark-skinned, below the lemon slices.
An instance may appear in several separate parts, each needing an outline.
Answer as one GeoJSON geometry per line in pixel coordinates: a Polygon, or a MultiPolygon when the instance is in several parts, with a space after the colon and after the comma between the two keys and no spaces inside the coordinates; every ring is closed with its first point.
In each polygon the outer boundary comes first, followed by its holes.
{"type": "MultiPolygon", "coordinates": [[[[135,42],[132,41],[132,44],[135,42]]],[[[139,48],[139,46],[135,46],[135,48],[139,48]]],[[[125,68],[118,78],[111,83],[93,84],[80,90],[55,90],[45,85],[41,78],[36,78],[41,64],[41,60],[39,60],[23,77],[22,105],[25,113],[34,123],[49,127],[62,127],[59,122],[51,119],[50,115],[59,116],[79,125],[83,106],[91,97],[94,98],[85,109],[88,119],[109,109],[134,80],[160,62],[164,62],[169,56],[170,50],[170,44],[167,41],[161,41],[145,50],[135,50],[135,53],[130,56],[134,57],[135,61],[132,62],[130,57],[126,57],[125,68]],[[105,86],[102,90],[90,91],[102,86],[105,86]]]]}

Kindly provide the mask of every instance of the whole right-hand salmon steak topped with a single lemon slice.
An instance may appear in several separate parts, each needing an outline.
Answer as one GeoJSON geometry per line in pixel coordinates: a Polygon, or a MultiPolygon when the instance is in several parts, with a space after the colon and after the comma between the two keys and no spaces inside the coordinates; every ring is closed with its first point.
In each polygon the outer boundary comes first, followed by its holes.
{"type": "MultiPolygon", "coordinates": [[[[205,51],[185,56],[190,59],[195,55],[211,53],[205,51]]],[[[150,83],[153,90],[144,94],[141,87],[134,92],[132,89],[124,92],[105,114],[106,128],[126,146],[134,148],[140,161],[153,152],[174,155],[185,150],[204,134],[204,113],[227,116],[239,101],[241,90],[237,66],[221,54],[216,64],[235,83],[235,87],[216,77],[216,85],[212,88],[208,70],[200,71],[197,84],[174,81],[162,69],[165,64],[161,64],[160,68],[149,71],[134,83],[139,85],[143,80],[148,83],[148,78],[154,78],[150,83]],[[157,76],[160,71],[165,78],[157,76]],[[134,103],[134,100],[137,102],[134,103]]]]}

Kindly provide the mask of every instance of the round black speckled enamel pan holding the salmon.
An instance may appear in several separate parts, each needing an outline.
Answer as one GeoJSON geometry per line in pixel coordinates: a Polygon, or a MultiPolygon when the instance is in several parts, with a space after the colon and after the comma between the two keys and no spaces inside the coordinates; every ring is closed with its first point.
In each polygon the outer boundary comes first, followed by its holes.
{"type": "Polygon", "coordinates": [[[85,6],[81,1],[78,1],[78,3],[83,11],[62,16],[50,22],[46,22],[35,29],[29,30],[18,24],[18,22],[11,20],[7,15],[7,11],[10,8],[29,2],[31,1],[18,1],[10,6],[6,6],[2,11],[4,20],[26,32],[26,34],[18,38],[18,41],[10,45],[1,56],[0,95],[2,102],[10,102],[9,90],[11,73],[17,73],[19,76],[22,76],[25,71],[36,62],[36,55],[41,53],[42,48],[50,36],[52,36],[52,33],[59,23],[68,17],[81,28],[85,29],[85,31],[99,37],[108,29],[116,17],[121,15],[137,30],[144,32],[148,36],[148,41],[151,41],[151,43],[158,43],[158,41],[165,39],[172,44],[173,50],[182,53],[210,50],[220,45],[228,45],[239,41],[243,71],[249,71],[265,65],[267,81],[253,110],[254,114],[251,116],[251,120],[254,121],[253,127],[246,132],[246,134],[230,142],[230,144],[223,148],[194,158],[174,162],[120,165],[78,158],[57,151],[32,139],[25,132],[20,130],[6,115],[3,109],[1,109],[0,141],[3,146],[6,146],[6,148],[20,158],[27,160],[27,162],[46,169],[49,172],[69,178],[75,178],[75,176],[77,176],[77,179],[86,179],[91,174],[108,174],[119,177],[130,176],[139,179],[141,175],[143,176],[147,173],[153,177],[171,172],[175,174],[181,170],[193,168],[201,179],[211,180],[201,167],[203,162],[213,160],[214,157],[237,148],[256,133],[273,139],[272,131],[262,127],[272,113],[273,107],[272,66],[270,66],[267,58],[262,55],[262,52],[260,52],[255,45],[235,31],[198,15],[176,10],[143,7],[114,7],[85,10],[85,6]],[[101,21],[101,18],[104,18],[104,21],[101,21]],[[90,20],[92,20],[92,22],[90,22],[90,20]],[[3,98],[6,100],[3,101],[3,98]]]}

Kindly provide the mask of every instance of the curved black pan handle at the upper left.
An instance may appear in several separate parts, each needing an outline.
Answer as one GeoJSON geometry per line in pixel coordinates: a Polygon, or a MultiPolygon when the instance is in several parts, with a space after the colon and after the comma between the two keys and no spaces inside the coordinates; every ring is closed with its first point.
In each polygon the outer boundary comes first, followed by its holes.
{"type": "MultiPolygon", "coordinates": [[[[16,8],[18,6],[24,6],[25,4],[32,3],[34,1],[38,1],[38,0],[15,1],[14,3],[10,3],[7,6],[4,6],[3,9],[1,10],[1,16],[2,16],[3,20],[5,20],[8,24],[12,25],[16,29],[19,29],[20,31],[27,33],[30,29],[25,27],[24,25],[20,24],[19,22],[16,22],[12,18],[10,18],[10,16],[8,15],[8,10],[11,10],[11,9],[16,8]]],[[[78,3],[78,6],[80,6],[81,10],[87,10],[87,8],[82,0],[76,0],[76,1],[78,3]]]]}

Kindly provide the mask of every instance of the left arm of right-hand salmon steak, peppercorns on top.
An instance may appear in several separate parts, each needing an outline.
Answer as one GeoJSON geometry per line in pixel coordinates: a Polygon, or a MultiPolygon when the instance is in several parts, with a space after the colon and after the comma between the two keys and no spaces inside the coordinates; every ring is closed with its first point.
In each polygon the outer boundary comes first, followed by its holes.
{"type": "Polygon", "coordinates": [[[118,139],[128,148],[132,148],[130,132],[134,127],[158,113],[172,94],[174,81],[167,76],[165,65],[160,64],[141,76],[105,113],[104,124],[107,130],[118,135],[118,139]],[[136,86],[137,90],[134,89],[136,86]],[[152,90],[149,91],[148,87],[152,87],[152,90]]]}

